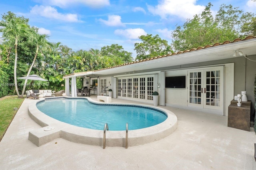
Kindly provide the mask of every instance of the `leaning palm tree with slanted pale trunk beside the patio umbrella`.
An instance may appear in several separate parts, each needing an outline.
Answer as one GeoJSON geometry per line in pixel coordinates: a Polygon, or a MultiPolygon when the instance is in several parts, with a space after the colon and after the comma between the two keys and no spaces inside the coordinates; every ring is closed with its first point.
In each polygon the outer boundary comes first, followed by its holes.
{"type": "MultiPolygon", "coordinates": [[[[36,43],[36,53],[35,53],[35,56],[34,56],[34,60],[33,60],[32,64],[30,65],[30,68],[28,70],[27,76],[29,76],[29,74],[30,74],[35,62],[36,62],[36,57],[38,55],[39,47],[44,48],[44,47],[50,45],[50,43],[46,40],[46,39],[49,38],[48,35],[38,34],[38,30],[34,27],[32,27],[30,32],[31,33],[30,33],[29,41],[32,42],[32,43],[36,43]]],[[[24,82],[24,86],[23,86],[21,96],[23,96],[23,94],[25,92],[27,81],[28,81],[28,79],[26,79],[25,82],[24,82]]]]}

